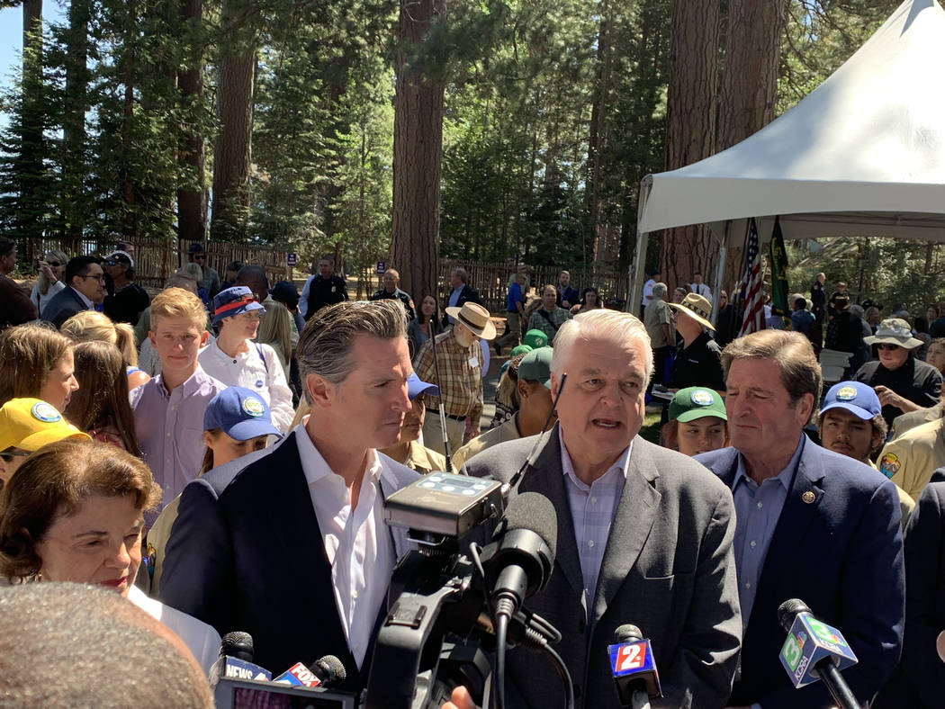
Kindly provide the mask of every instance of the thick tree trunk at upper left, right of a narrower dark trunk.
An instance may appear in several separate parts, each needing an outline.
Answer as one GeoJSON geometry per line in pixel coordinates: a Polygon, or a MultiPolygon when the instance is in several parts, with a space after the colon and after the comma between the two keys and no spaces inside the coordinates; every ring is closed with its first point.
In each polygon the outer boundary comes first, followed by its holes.
{"type": "Polygon", "coordinates": [[[214,209],[211,236],[216,241],[245,241],[249,222],[249,166],[252,160],[252,95],[256,38],[244,27],[244,10],[224,0],[223,56],[219,61],[216,117],[220,130],[214,147],[214,209]]]}

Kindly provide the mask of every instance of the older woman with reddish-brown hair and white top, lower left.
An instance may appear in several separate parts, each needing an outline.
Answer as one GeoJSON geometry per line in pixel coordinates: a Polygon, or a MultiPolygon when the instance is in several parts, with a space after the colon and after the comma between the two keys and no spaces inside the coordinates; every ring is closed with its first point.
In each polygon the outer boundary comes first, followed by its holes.
{"type": "Polygon", "coordinates": [[[219,649],[216,631],[133,585],[144,511],[160,500],[147,466],[123,450],[74,440],[45,445],[0,496],[0,574],[111,588],[175,631],[209,671],[219,649]]]}

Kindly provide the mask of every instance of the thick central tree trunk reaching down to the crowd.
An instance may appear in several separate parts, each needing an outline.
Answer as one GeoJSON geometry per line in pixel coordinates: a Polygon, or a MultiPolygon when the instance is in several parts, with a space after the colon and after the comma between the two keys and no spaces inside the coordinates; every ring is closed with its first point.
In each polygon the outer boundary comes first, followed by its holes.
{"type": "Polygon", "coordinates": [[[418,303],[424,293],[437,293],[443,84],[424,60],[410,60],[444,11],[444,0],[401,0],[398,21],[390,263],[418,303]]]}

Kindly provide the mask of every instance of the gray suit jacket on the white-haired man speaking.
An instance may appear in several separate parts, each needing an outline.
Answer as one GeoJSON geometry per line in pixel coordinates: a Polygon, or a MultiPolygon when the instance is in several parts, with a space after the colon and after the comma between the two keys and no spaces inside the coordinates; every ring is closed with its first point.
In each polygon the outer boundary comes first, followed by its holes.
{"type": "MultiPolygon", "coordinates": [[[[545,495],[558,510],[551,579],[525,607],[561,632],[557,650],[575,683],[576,706],[620,706],[607,646],[625,623],[639,626],[651,641],[665,695],[652,702],[654,707],[725,706],[742,630],[731,551],[731,493],[692,458],[635,438],[627,484],[587,608],[558,431],[556,426],[544,434],[535,466],[518,488],[545,495]]],[[[472,458],[466,470],[508,480],[534,443],[534,437],[500,443],[472,458]]],[[[563,698],[554,666],[525,649],[508,653],[506,694],[509,707],[536,709],[561,706],[563,698]]]]}

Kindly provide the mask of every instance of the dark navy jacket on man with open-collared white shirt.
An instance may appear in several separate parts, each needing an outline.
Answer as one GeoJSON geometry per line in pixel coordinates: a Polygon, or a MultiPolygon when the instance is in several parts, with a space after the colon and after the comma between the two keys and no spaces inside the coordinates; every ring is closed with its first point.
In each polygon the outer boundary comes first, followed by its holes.
{"type": "MultiPolygon", "coordinates": [[[[357,692],[367,681],[372,648],[359,671],[338,616],[296,435],[249,464],[241,459],[215,468],[184,488],[166,546],[161,598],[221,636],[249,632],[253,662],[273,674],[335,655],[347,671],[341,688],[357,692]]],[[[417,477],[404,466],[385,470],[382,492],[417,477]]],[[[407,547],[404,530],[388,528],[399,557],[407,547]]]]}

